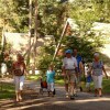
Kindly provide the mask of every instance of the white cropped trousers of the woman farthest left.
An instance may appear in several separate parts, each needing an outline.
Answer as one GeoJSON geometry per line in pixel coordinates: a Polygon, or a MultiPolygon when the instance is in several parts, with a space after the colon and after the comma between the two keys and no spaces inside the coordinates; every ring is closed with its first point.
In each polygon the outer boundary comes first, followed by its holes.
{"type": "Polygon", "coordinates": [[[14,76],[15,91],[23,90],[24,76],[14,76]]]}

